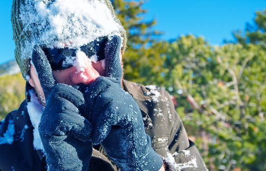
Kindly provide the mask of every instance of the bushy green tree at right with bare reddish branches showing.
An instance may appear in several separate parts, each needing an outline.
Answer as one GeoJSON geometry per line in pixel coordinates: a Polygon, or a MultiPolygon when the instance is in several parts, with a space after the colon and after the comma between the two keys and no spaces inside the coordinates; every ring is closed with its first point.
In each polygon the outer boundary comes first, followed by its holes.
{"type": "Polygon", "coordinates": [[[265,65],[256,44],[213,47],[188,35],[169,45],[164,86],[211,171],[266,170],[265,65]]]}

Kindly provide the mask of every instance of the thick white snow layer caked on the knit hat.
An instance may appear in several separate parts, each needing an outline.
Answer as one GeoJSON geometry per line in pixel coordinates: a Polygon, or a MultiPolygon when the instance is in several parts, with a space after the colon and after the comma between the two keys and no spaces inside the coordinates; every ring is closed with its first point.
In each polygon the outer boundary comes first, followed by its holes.
{"type": "Polygon", "coordinates": [[[100,0],[25,0],[20,19],[26,37],[22,57],[31,56],[35,44],[74,48],[107,35],[120,35],[121,26],[100,0]]]}

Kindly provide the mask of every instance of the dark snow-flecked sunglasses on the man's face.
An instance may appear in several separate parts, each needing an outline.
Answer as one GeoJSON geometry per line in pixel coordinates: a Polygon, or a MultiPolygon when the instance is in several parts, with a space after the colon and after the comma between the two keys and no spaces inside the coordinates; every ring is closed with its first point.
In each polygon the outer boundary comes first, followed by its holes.
{"type": "MultiPolygon", "coordinates": [[[[100,37],[91,43],[81,46],[80,51],[84,52],[88,58],[98,56],[97,61],[105,59],[105,47],[108,37],[100,37]]],[[[73,66],[78,49],[66,48],[42,48],[52,70],[62,70],[73,66]],[[70,61],[70,62],[69,62],[70,61]],[[72,62],[71,62],[72,61],[72,62]]]]}

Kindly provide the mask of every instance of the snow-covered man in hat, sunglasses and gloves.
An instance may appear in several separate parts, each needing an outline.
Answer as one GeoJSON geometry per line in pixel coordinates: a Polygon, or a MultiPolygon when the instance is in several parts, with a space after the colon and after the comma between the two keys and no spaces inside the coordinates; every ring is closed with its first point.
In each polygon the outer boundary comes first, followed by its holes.
{"type": "Polygon", "coordinates": [[[14,0],[12,23],[27,98],[1,122],[1,171],[207,170],[169,94],[122,79],[109,0],[14,0]]]}

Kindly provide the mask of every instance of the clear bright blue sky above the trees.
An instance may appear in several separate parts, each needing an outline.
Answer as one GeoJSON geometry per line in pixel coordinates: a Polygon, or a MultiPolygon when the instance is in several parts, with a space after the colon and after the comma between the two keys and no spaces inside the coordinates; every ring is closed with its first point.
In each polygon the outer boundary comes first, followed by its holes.
{"type": "MultiPolygon", "coordinates": [[[[0,64],[14,59],[11,3],[0,0],[0,64]]],[[[156,19],[155,29],[165,33],[162,39],[194,34],[221,45],[233,39],[232,31],[252,22],[255,11],[266,9],[266,0],[146,0],[143,7],[149,11],[145,19],[156,19]]]]}

